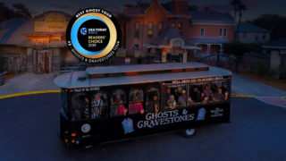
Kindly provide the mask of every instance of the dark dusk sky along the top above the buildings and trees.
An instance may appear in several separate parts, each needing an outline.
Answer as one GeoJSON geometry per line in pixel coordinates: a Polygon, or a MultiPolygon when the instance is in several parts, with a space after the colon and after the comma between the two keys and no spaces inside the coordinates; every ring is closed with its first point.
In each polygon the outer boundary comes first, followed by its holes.
{"type": "MultiPolygon", "coordinates": [[[[151,0],[146,0],[150,2],[151,0]]],[[[160,3],[168,2],[170,0],[159,0],[160,3]]],[[[21,3],[21,0],[4,0],[8,6],[15,3],[21,3]]],[[[112,13],[122,12],[124,4],[135,4],[135,0],[25,0],[24,4],[29,8],[33,15],[43,13],[46,11],[63,11],[65,13],[74,14],[79,9],[88,7],[104,8],[112,13]]],[[[228,11],[231,12],[232,7],[230,5],[231,0],[189,0],[189,4],[196,4],[199,7],[210,6],[212,10],[216,11],[228,11]]],[[[282,16],[286,16],[285,0],[243,0],[244,4],[247,4],[248,11],[243,14],[243,20],[251,20],[257,18],[260,14],[265,13],[277,13],[282,16]]],[[[233,12],[231,12],[232,15],[233,12]]]]}

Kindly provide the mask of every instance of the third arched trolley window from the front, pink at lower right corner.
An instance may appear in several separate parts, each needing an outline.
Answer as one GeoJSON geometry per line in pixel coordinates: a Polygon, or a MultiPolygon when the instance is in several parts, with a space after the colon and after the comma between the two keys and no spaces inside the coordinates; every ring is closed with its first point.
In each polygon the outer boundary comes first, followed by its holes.
{"type": "Polygon", "coordinates": [[[111,96],[110,116],[126,115],[126,94],[122,89],[115,89],[111,96]]]}

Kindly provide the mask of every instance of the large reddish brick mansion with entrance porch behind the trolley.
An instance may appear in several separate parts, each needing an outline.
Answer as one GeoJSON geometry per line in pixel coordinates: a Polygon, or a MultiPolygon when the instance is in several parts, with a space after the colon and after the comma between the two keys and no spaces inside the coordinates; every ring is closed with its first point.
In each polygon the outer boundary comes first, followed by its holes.
{"type": "Polygon", "coordinates": [[[127,55],[140,51],[161,63],[186,62],[198,49],[206,54],[223,53],[223,43],[234,39],[234,21],[229,13],[207,7],[189,12],[188,0],[173,0],[170,9],[157,0],[147,8],[125,4],[124,13],[130,18],[125,32],[127,55]]]}

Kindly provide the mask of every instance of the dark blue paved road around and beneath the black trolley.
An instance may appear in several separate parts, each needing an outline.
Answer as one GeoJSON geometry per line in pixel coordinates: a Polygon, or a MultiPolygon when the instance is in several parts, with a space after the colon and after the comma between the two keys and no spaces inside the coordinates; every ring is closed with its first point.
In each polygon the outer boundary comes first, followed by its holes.
{"type": "Polygon", "coordinates": [[[285,160],[286,109],[232,98],[231,123],[68,149],[57,139],[59,94],[0,99],[0,160],[285,160]]]}

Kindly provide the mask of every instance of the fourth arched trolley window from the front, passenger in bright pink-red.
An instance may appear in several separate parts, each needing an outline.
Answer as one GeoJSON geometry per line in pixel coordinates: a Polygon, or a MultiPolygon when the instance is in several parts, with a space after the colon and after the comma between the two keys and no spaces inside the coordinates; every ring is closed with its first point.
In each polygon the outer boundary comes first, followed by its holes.
{"type": "Polygon", "coordinates": [[[143,114],[143,100],[143,90],[139,88],[131,88],[129,93],[129,114],[143,114]]]}

